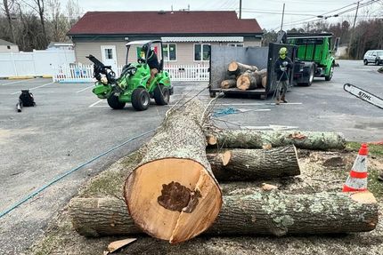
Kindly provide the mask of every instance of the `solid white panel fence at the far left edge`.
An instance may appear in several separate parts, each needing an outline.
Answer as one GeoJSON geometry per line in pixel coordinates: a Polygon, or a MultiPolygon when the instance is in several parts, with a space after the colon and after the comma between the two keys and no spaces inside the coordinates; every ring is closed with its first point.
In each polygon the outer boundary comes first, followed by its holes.
{"type": "Polygon", "coordinates": [[[53,76],[54,67],[75,62],[73,50],[0,53],[0,77],[53,76]]]}

